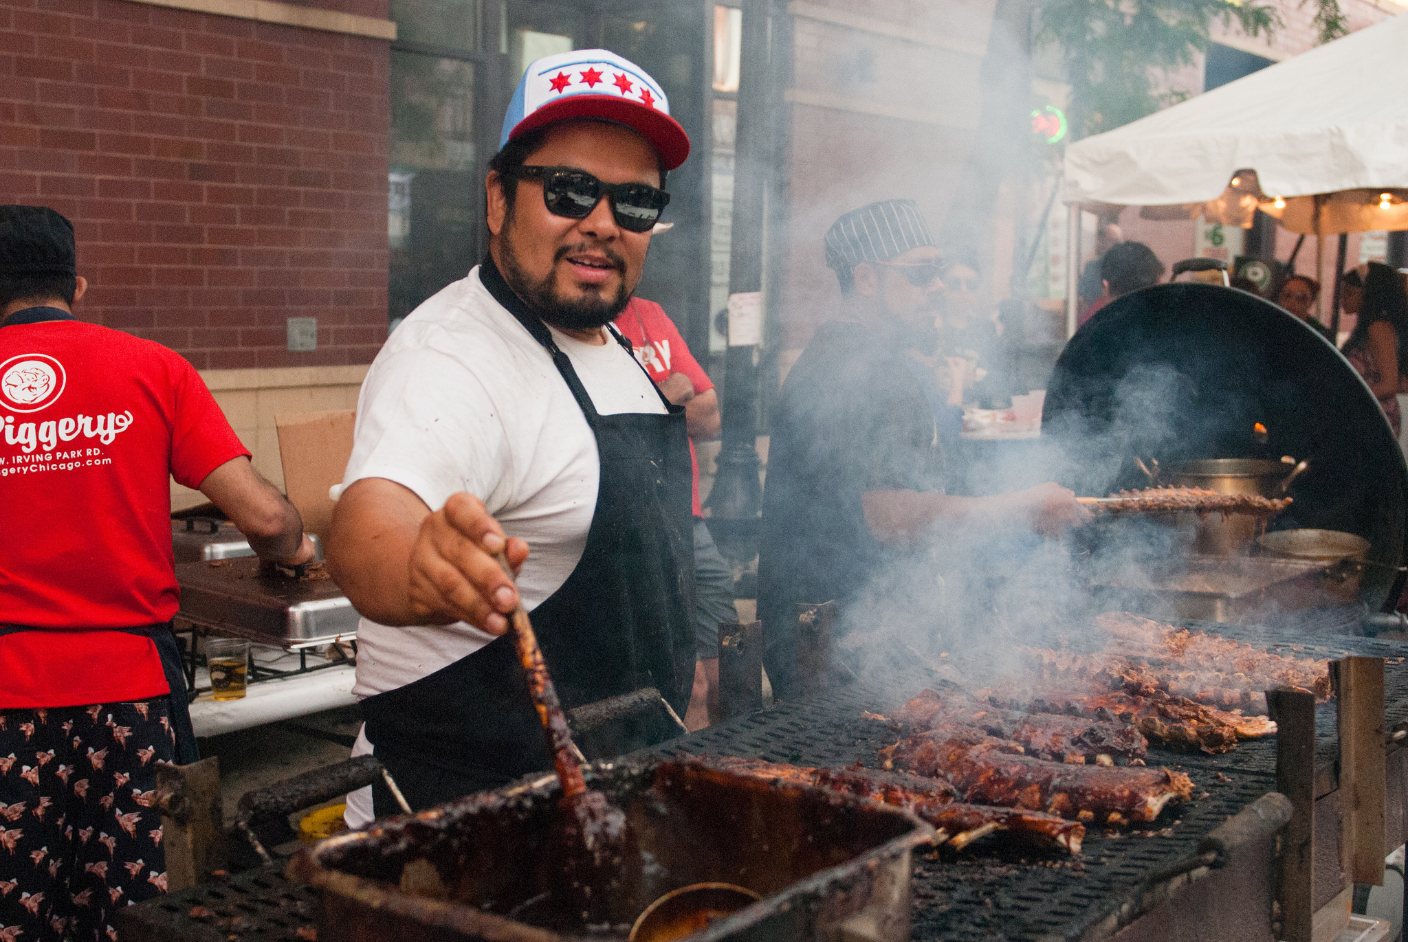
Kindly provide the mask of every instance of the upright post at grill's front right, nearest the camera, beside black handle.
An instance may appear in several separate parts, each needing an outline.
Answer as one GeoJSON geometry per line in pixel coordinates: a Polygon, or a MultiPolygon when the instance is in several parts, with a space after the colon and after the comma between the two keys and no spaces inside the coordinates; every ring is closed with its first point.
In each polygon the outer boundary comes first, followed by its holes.
{"type": "Polygon", "coordinates": [[[1276,901],[1284,942],[1311,942],[1315,918],[1315,694],[1298,687],[1269,690],[1276,721],[1276,790],[1291,800],[1281,843],[1276,901]]]}

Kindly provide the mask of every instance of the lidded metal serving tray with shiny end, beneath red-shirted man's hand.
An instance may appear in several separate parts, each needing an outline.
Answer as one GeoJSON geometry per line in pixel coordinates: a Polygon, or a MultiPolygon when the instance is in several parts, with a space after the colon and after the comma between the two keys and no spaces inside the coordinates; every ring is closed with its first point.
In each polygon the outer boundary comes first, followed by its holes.
{"type": "Polygon", "coordinates": [[[180,617],[266,645],[301,648],[356,638],[358,611],[331,579],[293,580],[253,556],[179,563],[180,617]]]}

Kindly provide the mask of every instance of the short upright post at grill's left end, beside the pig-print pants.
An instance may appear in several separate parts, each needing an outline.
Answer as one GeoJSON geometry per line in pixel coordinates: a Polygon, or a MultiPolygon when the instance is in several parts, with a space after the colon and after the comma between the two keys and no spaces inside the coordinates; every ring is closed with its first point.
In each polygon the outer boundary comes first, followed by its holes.
{"type": "Polygon", "coordinates": [[[156,807],[162,810],[166,890],[186,890],[222,866],[224,811],[220,758],[156,769],[156,807]]]}

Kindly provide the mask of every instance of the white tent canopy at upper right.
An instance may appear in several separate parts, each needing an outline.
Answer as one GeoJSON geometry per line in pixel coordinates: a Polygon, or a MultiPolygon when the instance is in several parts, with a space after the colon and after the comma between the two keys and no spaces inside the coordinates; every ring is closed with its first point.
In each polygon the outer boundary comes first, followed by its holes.
{"type": "Polygon", "coordinates": [[[1408,189],[1408,15],[1066,148],[1066,203],[1218,199],[1256,170],[1270,197],[1408,189]]]}

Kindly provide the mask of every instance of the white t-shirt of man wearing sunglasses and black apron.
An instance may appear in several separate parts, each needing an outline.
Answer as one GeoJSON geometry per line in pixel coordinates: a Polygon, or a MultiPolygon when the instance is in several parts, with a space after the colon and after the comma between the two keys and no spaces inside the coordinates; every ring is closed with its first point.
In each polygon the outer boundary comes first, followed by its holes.
{"type": "MultiPolygon", "coordinates": [[[[553,331],[597,413],[665,413],[645,372],[608,338],[553,331]]],[[[384,477],[432,510],[467,491],[531,553],[518,576],[529,611],[577,566],[597,503],[597,441],[548,351],[479,280],[417,307],[377,353],[358,397],[344,486],[384,477]]],[[[358,697],[435,673],[493,641],[465,622],[358,628],[358,697]]]]}

